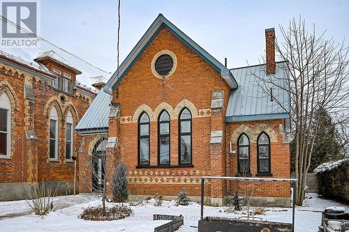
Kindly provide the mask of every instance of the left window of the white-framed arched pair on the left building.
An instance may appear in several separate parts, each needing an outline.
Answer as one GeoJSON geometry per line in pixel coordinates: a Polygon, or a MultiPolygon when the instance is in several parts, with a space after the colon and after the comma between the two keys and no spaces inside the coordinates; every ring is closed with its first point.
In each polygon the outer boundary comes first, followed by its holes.
{"type": "Polygon", "coordinates": [[[52,107],[50,111],[50,159],[58,159],[58,128],[59,117],[56,107],[52,107]]]}

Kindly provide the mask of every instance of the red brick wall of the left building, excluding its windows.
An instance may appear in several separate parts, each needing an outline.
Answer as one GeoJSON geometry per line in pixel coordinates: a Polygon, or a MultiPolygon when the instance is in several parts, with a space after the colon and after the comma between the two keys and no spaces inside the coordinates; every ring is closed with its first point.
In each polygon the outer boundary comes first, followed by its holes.
{"type": "MultiPolygon", "coordinates": [[[[67,95],[55,91],[49,83],[39,77],[15,70],[3,65],[0,82],[6,82],[13,88],[17,96],[18,110],[14,111],[12,125],[12,155],[10,159],[0,158],[0,183],[21,183],[31,181],[73,180],[74,163],[66,162],[66,112],[70,109],[75,118],[75,125],[89,107],[91,99],[84,95],[67,95]],[[10,72],[21,75],[10,75],[10,72]],[[34,88],[35,101],[24,99],[24,82],[31,83],[34,88]],[[61,96],[66,102],[60,101],[61,96]],[[57,101],[59,114],[59,160],[48,159],[49,148],[49,115],[50,102],[57,101]],[[48,112],[48,114],[47,114],[48,112]],[[25,130],[34,130],[38,136],[36,141],[28,141],[25,130]]],[[[0,86],[1,88],[1,86],[0,86]]],[[[80,135],[74,135],[73,155],[77,155],[80,147],[80,135]]]]}

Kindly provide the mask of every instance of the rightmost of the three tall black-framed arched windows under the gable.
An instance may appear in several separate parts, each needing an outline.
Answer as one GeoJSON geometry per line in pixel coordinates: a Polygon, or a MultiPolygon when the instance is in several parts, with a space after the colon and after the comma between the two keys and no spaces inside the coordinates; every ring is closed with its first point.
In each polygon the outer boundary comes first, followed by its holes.
{"type": "Polygon", "coordinates": [[[191,164],[191,111],[182,109],[179,114],[179,164],[191,164]]]}

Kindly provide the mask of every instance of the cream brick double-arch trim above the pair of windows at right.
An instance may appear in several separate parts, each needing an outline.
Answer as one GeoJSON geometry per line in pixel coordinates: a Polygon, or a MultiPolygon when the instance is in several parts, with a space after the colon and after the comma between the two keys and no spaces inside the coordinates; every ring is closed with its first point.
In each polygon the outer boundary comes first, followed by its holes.
{"type": "Polygon", "coordinates": [[[273,127],[271,127],[270,125],[267,125],[265,123],[258,125],[257,127],[255,127],[254,130],[252,130],[247,125],[244,125],[244,124],[240,125],[232,133],[232,136],[230,137],[230,141],[232,141],[232,143],[237,143],[237,138],[239,137],[239,135],[242,133],[245,133],[245,134],[247,134],[251,143],[255,143],[255,142],[257,142],[257,137],[261,132],[266,132],[269,135],[271,142],[278,141],[277,134],[276,134],[275,130],[273,129],[273,127]]]}

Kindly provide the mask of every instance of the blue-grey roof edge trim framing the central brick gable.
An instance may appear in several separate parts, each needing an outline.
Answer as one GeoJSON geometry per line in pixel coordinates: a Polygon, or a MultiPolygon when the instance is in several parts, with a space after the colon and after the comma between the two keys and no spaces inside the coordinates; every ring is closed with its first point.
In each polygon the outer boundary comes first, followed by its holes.
{"type": "Polygon", "coordinates": [[[166,19],[162,14],[159,14],[158,17],[154,20],[154,22],[149,26],[149,29],[144,33],[142,38],[138,41],[137,45],[133,47],[132,51],[126,59],[121,63],[116,72],[109,79],[107,84],[104,86],[104,91],[107,93],[112,93],[112,89],[117,86],[117,84],[124,78],[128,70],[132,67],[133,63],[138,60],[138,57],[144,49],[147,48],[149,43],[155,38],[159,31],[163,28],[171,31],[174,36],[177,36],[179,40],[184,42],[185,45],[190,47],[194,52],[202,57],[205,61],[207,61],[215,70],[221,73],[225,82],[230,86],[230,88],[237,88],[237,82],[232,75],[232,72],[228,68],[226,68],[221,62],[217,61],[213,56],[211,56],[208,52],[205,51],[202,47],[200,47],[194,40],[186,36],[186,34],[179,30],[177,26],[174,26],[172,22],[166,19]],[[119,73],[119,79],[117,78],[119,73]]]}

